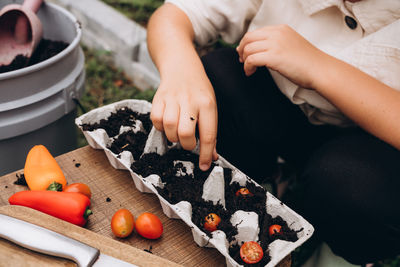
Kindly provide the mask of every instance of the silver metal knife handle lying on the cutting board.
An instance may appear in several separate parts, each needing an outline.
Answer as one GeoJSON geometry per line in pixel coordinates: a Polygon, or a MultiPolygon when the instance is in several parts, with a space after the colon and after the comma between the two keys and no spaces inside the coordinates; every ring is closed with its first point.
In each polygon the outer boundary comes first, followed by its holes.
{"type": "Polygon", "coordinates": [[[79,267],[92,266],[100,253],[72,238],[3,214],[0,237],[37,252],[73,260],[79,267]]]}

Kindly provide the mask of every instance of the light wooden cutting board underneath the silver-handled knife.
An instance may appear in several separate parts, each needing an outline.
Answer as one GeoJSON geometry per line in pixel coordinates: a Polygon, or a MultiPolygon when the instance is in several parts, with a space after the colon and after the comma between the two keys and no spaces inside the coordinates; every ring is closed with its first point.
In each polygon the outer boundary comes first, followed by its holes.
{"type": "MultiPolygon", "coordinates": [[[[21,206],[2,206],[0,207],[0,214],[42,226],[96,247],[109,256],[138,266],[181,266],[33,209],[21,206]]],[[[10,231],[18,231],[18,229],[10,229],[10,231]]],[[[5,239],[0,239],[0,251],[0,266],[76,266],[70,260],[37,253],[5,239]]]]}

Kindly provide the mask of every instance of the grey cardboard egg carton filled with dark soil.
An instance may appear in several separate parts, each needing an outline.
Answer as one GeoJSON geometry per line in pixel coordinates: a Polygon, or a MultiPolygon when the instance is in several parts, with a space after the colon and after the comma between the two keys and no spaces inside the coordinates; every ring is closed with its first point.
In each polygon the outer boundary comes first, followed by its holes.
{"type": "MultiPolygon", "coordinates": [[[[99,122],[101,119],[106,119],[107,117],[109,117],[112,112],[116,112],[117,110],[123,107],[130,108],[131,110],[139,113],[148,113],[151,111],[151,103],[147,101],[134,100],[134,99],[123,100],[107,106],[94,109],[76,118],[75,123],[82,130],[81,126],[82,124],[93,124],[99,122]]],[[[129,130],[129,127],[121,127],[120,133],[126,130],[129,130]]],[[[89,145],[92,148],[104,150],[110,164],[115,169],[122,169],[130,172],[132,179],[135,183],[135,186],[139,191],[156,194],[160,201],[163,212],[165,213],[166,216],[168,216],[169,218],[183,220],[192,229],[193,239],[199,246],[216,248],[223,256],[225,256],[227,266],[242,266],[229,255],[229,250],[228,250],[229,243],[223,231],[216,230],[212,232],[211,233],[212,237],[207,235],[197,225],[195,225],[192,222],[191,220],[192,207],[189,202],[181,201],[177,204],[172,205],[158,193],[156,186],[158,187],[163,186],[162,181],[158,175],[152,174],[149,175],[148,177],[142,177],[141,175],[131,170],[130,167],[134,159],[129,151],[123,151],[119,155],[116,155],[110,149],[107,148],[107,146],[110,145],[113,139],[116,137],[114,138],[108,137],[104,129],[96,129],[94,131],[83,131],[83,134],[85,135],[86,140],[88,141],[89,145]]],[[[168,142],[165,138],[165,135],[157,131],[153,127],[148,135],[143,154],[156,152],[162,155],[168,149],[171,149],[174,146],[179,146],[179,144],[173,144],[172,146],[168,146],[168,142]]],[[[194,152],[196,153],[197,151],[198,147],[194,150],[194,152]]],[[[224,203],[224,196],[223,196],[224,178],[223,178],[222,168],[232,169],[231,182],[236,181],[241,186],[244,186],[246,182],[251,182],[261,187],[255,181],[251,180],[240,170],[238,170],[235,166],[230,164],[223,157],[220,156],[215,163],[217,167],[214,167],[214,169],[210,173],[209,178],[204,183],[203,198],[205,200],[211,200],[214,203],[219,202],[220,204],[224,203]]],[[[183,164],[185,163],[183,162],[183,164]]],[[[186,169],[189,169],[190,172],[190,167],[186,169]]],[[[300,216],[295,211],[290,209],[275,196],[273,196],[269,192],[266,192],[266,195],[267,195],[266,210],[268,214],[270,214],[272,217],[280,216],[287,222],[288,226],[291,229],[302,229],[302,231],[299,231],[297,233],[298,240],[295,242],[289,242],[278,239],[269,244],[268,249],[271,261],[265,266],[271,267],[277,265],[284,257],[286,257],[293,250],[295,250],[297,247],[303,244],[307,239],[309,239],[314,232],[314,228],[302,216],[300,216]]],[[[259,228],[258,228],[257,217],[255,217],[254,214],[257,215],[254,212],[237,211],[232,216],[231,222],[233,225],[236,224],[235,222],[242,222],[240,225],[238,225],[238,235],[236,236],[238,242],[242,241],[244,242],[249,240],[256,241],[254,239],[257,239],[259,228]]]]}

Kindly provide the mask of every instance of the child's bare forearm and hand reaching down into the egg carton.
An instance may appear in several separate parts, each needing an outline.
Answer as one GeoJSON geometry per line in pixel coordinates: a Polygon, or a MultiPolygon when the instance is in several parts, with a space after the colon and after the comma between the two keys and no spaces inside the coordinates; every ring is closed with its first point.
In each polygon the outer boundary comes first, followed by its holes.
{"type": "Polygon", "coordinates": [[[198,129],[199,166],[205,171],[218,157],[218,115],[214,90],[193,39],[189,18],[173,4],[163,5],[150,19],[147,43],[161,76],[150,118],[168,140],[179,141],[187,150],[196,147],[198,129]]]}

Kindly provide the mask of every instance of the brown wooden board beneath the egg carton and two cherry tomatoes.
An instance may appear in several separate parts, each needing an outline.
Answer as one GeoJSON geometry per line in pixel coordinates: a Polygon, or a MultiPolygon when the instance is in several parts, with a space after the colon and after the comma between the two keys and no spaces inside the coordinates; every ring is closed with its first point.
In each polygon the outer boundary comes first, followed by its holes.
{"type": "MultiPolygon", "coordinates": [[[[155,255],[185,266],[225,266],[225,258],[216,249],[197,246],[190,228],[181,220],[166,217],[157,197],[139,192],[129,172],[114,169],[102,150],[86,146],[56,160],[68,183],[86,183],[92,190],[93,215],[87,229],[140,250],[151,246],[155,255]],[[107,198],[111,201],[107,202],[107,198]],[[129,209],[135,217],[145,211],[156,214],[164,225],[162,237],[158,240],[147,240],[137,234],[126,239],[114,237],[110,228],[111,217],[120,208],[129,209]]],[[[0,206],[7,205],[8,198],[15,192],[28,189],[13,184],[16,173],[22,173],[22,170],[0,177],[0,206]]]]}

